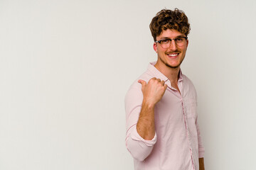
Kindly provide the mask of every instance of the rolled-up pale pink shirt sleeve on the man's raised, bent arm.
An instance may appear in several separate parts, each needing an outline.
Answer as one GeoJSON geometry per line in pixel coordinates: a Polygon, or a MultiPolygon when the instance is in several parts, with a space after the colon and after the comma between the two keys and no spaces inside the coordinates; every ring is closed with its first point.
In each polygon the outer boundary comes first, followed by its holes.
{"type": "Polygon", "coordinates": [[[144,140],[137,132],[139,113],[142,110],[143,94],[139,88],[132,87],[125,96],[126,147],[134,159],[144,161],[156,143],[156,132],[152,140],[144,140]]]}

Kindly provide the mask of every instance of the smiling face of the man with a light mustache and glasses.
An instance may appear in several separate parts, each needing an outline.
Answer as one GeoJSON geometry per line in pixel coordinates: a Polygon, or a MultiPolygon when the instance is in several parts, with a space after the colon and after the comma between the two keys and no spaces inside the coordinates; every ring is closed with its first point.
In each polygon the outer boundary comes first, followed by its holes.
{"type": "MultiPolygon", "coordinates": [[[[156,37],[156,40],[173,39],[178,37],[185,37],[184,34],[178,32],[178,30],[163,30],[163,32],[156,37]]],[[[186,49],[188,47],[188,40],[185,45],[178,46],[174,40],[171,40],[169,48],[163,48],[159,43],[154,42],[154,50],[157,53],[158,59],[155,67],[159,69],[179,69],[181,62],[186,55],[186,49]]]]}

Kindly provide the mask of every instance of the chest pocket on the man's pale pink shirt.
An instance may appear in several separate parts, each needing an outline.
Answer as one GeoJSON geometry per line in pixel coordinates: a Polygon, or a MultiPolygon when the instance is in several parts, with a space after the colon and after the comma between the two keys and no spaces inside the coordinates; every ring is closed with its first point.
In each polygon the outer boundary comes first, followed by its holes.
{"type": "Polygon", "coordinates": [[[185,115],[187,119],[193,119],[196,120],[197,117],[197,103],[196,103],[196,99],[189,99],[186,102],[186,107],[185,107],[185,115]]]}

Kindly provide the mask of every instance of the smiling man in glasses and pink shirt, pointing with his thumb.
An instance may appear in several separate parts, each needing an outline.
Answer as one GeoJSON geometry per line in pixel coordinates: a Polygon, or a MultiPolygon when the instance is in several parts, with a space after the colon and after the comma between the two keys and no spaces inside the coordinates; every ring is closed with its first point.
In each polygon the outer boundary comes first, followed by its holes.
{"type": "Polygon", "coordinates": [[[180,65],[190,30],[183,11],[163,9],[150,23],[157,61],[125,96],[126,145],[136,170],[203,170],[196,89],[180,65]]]}

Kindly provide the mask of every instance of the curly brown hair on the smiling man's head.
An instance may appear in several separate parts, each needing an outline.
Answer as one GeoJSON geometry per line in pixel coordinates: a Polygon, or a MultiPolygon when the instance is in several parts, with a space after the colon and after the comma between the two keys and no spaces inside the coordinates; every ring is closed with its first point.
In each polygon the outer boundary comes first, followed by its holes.
{"type": "Polygon", "coordinates": [[[149,28],[155,41],[156,37],[161,35],[163,30],[178,30],[178,32],[183,33],[186,36],[188,35],[189,30],[191,30],[190,24],[188,23],[188,17],[178,8],[175,8],[174,11],[162,9],[156,13],[149,28]]]}

